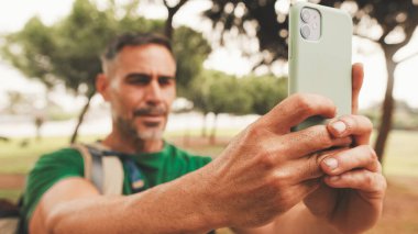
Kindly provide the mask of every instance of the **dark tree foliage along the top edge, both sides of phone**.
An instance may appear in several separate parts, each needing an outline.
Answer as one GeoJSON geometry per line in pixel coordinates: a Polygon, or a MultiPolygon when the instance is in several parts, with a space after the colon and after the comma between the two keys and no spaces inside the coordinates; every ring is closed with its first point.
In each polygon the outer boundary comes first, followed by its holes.
{"type": "MultiPolygon", "coordinates": [[[[254,35],[255,31],[260,51],[265,55],[260,64],[270,65],[277,59],[287,60],[289,19],[288,11],[276,10],[279,1],[212,0],[212,8],[204,15],[212,21],[213,29],[220,30],[221,43],[228,33],[254,35]],[[251,24],[254,25],[253,29],[249,26],[251,24]]],[[[334,8],[344,5],[353,19],[354,33],[380,43],[383,48],[391,48],[392,53],[408,43],[418,23],[418,4],[414,0],[309,0],[309,2],[334,8]],[[378,27],[382,33],[378,36],[370,33],[373,27],[378,27]],[[394,44],[387,43],[386,37],[391,36],[391,33],[399,32],[405,34],[404,40],[394,44]]],[[[243,44],[242,49],[246,47],[246,44],[243,44]]]]}

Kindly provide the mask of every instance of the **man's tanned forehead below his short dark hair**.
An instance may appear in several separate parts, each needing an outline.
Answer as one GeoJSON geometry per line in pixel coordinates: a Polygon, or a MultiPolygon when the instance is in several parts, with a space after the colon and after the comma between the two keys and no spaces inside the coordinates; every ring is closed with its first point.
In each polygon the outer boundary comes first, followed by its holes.
{"type": "Polygon", "coordinates": [[[170,52],[158,44],[123,47],[117,58],[117,70],[174,76],[176,63],[170,52]]]}

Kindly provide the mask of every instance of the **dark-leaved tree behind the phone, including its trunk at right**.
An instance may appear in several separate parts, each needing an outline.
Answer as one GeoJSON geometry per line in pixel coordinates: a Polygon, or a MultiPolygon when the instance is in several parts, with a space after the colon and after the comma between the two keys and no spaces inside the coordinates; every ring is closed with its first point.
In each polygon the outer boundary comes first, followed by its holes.
{"type": "MultiPolygon", "coordinates": [[[[397,63],[394,62],[393,56],[410,41],[417,27],[418,3],[415,0],[317,0],[315,2],[351,9],[354,33],[377,43],[385,53],[388,79],[378,137],[375,143],[376,153],[382,160],[394,108],[392,93],[397,63]],[[380,29],[382,33],[378,36],[371,35],[370,29],[373,27],[380,29]],[[402,38],[391,41],[394,34],[400,34],[402,38]]],[[[255,25],[260,51],[264,52],[258,65],[270,65],[277,59],[287,59],[287,14],[288,10],[280,8],[279,1],[276,0],[213,0],[212,8],[205,12],[205,15],[212,20],[213,26],[221,27],[227,34],[231,31],[241,34],[251,33],[254,26],[248,25],[255,25]],[[235,13],[237,11],[243,13],[235,13]]]]}

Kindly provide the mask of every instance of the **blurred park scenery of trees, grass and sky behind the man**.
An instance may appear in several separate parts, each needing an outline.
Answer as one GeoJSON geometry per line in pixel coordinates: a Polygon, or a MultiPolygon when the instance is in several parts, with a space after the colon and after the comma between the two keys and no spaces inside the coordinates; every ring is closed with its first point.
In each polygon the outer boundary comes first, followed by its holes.
{"type": "MultiPolygon", "coordinates": [[[[287,97],[290,0],[14,0],[0,7],[0,198],[16,201],[44,153],[110,131],[95,94],[114,35],[173,40],[178,99],[166,138],[216,157],[287,97]]],[[[370,233],[418,233],[418,1],[317,0],[348,11],[353,63],[364,64],[361,113],[388,179],[370,233]]],[[[330,65],[332,66],[332,65],[330,65]]]]}

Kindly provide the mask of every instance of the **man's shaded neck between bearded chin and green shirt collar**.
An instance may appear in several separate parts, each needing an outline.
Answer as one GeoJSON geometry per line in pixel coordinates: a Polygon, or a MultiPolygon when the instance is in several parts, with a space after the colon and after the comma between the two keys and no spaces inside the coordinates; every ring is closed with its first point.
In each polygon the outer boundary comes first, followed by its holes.
{"type": "Polygon", "coordinates": [[[163,140],[140,140],[128,137],[118,131],[112,131],[102,142],[112,151],[127,154],[161,152],[164,147],[163,140]]]}

